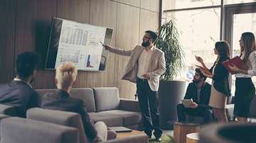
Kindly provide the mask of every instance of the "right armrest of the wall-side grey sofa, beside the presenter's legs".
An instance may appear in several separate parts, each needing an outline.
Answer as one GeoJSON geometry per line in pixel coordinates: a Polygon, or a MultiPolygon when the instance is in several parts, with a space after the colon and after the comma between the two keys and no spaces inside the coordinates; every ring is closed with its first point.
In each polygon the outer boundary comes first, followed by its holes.
{"type": "Polygon", "coordinates": [[[120,105],[121,110],[141,112],[141,110],[139,109],[139,101],[120,98],[120,105]]]}

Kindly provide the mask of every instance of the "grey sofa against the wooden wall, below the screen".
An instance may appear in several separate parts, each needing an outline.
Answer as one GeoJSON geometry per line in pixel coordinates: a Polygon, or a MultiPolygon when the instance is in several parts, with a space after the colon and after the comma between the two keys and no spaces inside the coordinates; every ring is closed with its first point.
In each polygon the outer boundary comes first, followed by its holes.
{"type": "MultiPolygon", "coordinates": [[[[56,89],[36,91],[42,98],[43,94],[56,89]]],[[[70,95],[85,101],[92,123],[103,121],[107,127],[123,126],[132,130],[144,130],[138,101],[119,98],[118,88],[72,88],[70,95]]]]}

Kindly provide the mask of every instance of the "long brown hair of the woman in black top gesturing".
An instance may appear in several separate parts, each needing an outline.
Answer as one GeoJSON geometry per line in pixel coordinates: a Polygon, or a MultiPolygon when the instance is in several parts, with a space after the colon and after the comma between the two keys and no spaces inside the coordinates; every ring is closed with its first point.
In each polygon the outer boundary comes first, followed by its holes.
{"type": "Polygon", "coordinates": [[[218,66],[221,64],[219,59],[231,59],[230,57],[230,46],[227,41],[219,41],[215,43],[215,48],[219,52],[219,56],[216,59],[215,65],[218,66]]]}

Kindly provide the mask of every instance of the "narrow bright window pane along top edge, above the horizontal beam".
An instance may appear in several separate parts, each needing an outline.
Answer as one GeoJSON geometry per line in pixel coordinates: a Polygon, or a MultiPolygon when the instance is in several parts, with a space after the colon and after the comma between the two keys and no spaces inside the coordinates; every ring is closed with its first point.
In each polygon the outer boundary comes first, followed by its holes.
{"type": "Polygon", "coordinates": [[[193,8],[200,6],[218,6],[221,0],[166,0],[166,9],[193,8]]]}

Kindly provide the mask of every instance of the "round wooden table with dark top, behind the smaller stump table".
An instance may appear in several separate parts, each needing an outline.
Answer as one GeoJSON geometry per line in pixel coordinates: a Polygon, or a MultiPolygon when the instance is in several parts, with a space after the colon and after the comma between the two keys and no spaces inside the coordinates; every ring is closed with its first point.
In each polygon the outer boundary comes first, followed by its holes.
{"type": "Polygon", "coordinates": [[[168,123],[174,125],[174,139],[177,143],[186,143],[187,134],[200,130],[200,124],[194,122],[169,121],[168,123]]]}

